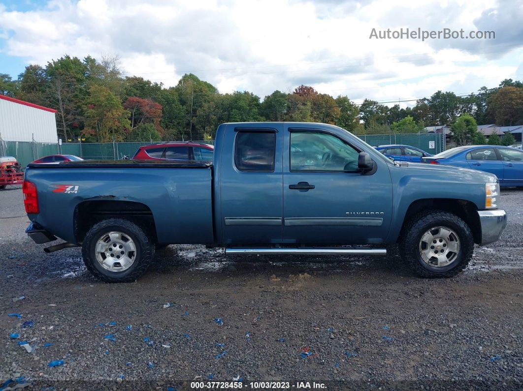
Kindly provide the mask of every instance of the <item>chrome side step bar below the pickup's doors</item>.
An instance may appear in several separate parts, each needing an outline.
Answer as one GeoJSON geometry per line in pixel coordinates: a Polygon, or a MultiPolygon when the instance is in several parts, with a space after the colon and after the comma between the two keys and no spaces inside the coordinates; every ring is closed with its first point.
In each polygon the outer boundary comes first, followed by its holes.
{"type": "Polygon", "coordinates": [[[385,248],[268,247],[225,248],[226,255],[386,255],[385,248]]]}

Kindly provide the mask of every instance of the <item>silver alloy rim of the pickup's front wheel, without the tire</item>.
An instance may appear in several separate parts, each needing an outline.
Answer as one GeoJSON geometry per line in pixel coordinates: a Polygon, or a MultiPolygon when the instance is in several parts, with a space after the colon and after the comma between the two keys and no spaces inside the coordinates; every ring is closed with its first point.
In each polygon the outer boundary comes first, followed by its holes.
{"type": "Polygon", "coordinates": [[[419,255],[429,266],[449,266],[458,258],[459,252],[458,235],[447,227],[431,228],[419,241],[419,255]]]}

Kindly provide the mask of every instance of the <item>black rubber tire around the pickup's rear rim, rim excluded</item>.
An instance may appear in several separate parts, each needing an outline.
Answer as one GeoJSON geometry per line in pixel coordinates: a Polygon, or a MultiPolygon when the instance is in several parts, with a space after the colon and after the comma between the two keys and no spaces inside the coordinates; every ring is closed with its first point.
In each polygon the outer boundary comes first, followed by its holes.
{"type": "Polygon", "coordinates": [[[87,270],[105,282],[132,282],[141,277],[154,259],[154,242],[137,224],[125,219],[107,219],[96,223],[85,235],[82,243],[82,256],[87,270]],[[124,271],[110,271],[102,267],[96,259],[95,246],[104,233],[122,232],[134,241],[136,254],[132,265],[124,271]]]}

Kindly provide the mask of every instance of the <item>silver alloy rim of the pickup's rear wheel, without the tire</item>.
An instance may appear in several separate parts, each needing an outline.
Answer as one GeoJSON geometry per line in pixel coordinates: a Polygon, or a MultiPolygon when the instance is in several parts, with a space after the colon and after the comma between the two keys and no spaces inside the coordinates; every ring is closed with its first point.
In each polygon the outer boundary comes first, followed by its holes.
{"type": "Polygon", "coordinates": [[[104,233],[96,242],[96,260],[106,270],[124,271],[136,259],[136,245],[128,234],[111,231],[104,233]]]}

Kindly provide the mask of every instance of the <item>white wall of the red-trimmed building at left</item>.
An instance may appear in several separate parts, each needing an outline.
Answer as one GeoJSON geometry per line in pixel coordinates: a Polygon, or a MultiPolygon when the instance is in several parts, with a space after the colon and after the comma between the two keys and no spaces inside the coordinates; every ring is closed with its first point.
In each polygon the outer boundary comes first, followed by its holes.
{"type": "Polygon", "coordinates": [[[0,136],[4,141],[57,143],[56,119],[51,111],[0,98],[0,136]]]}

